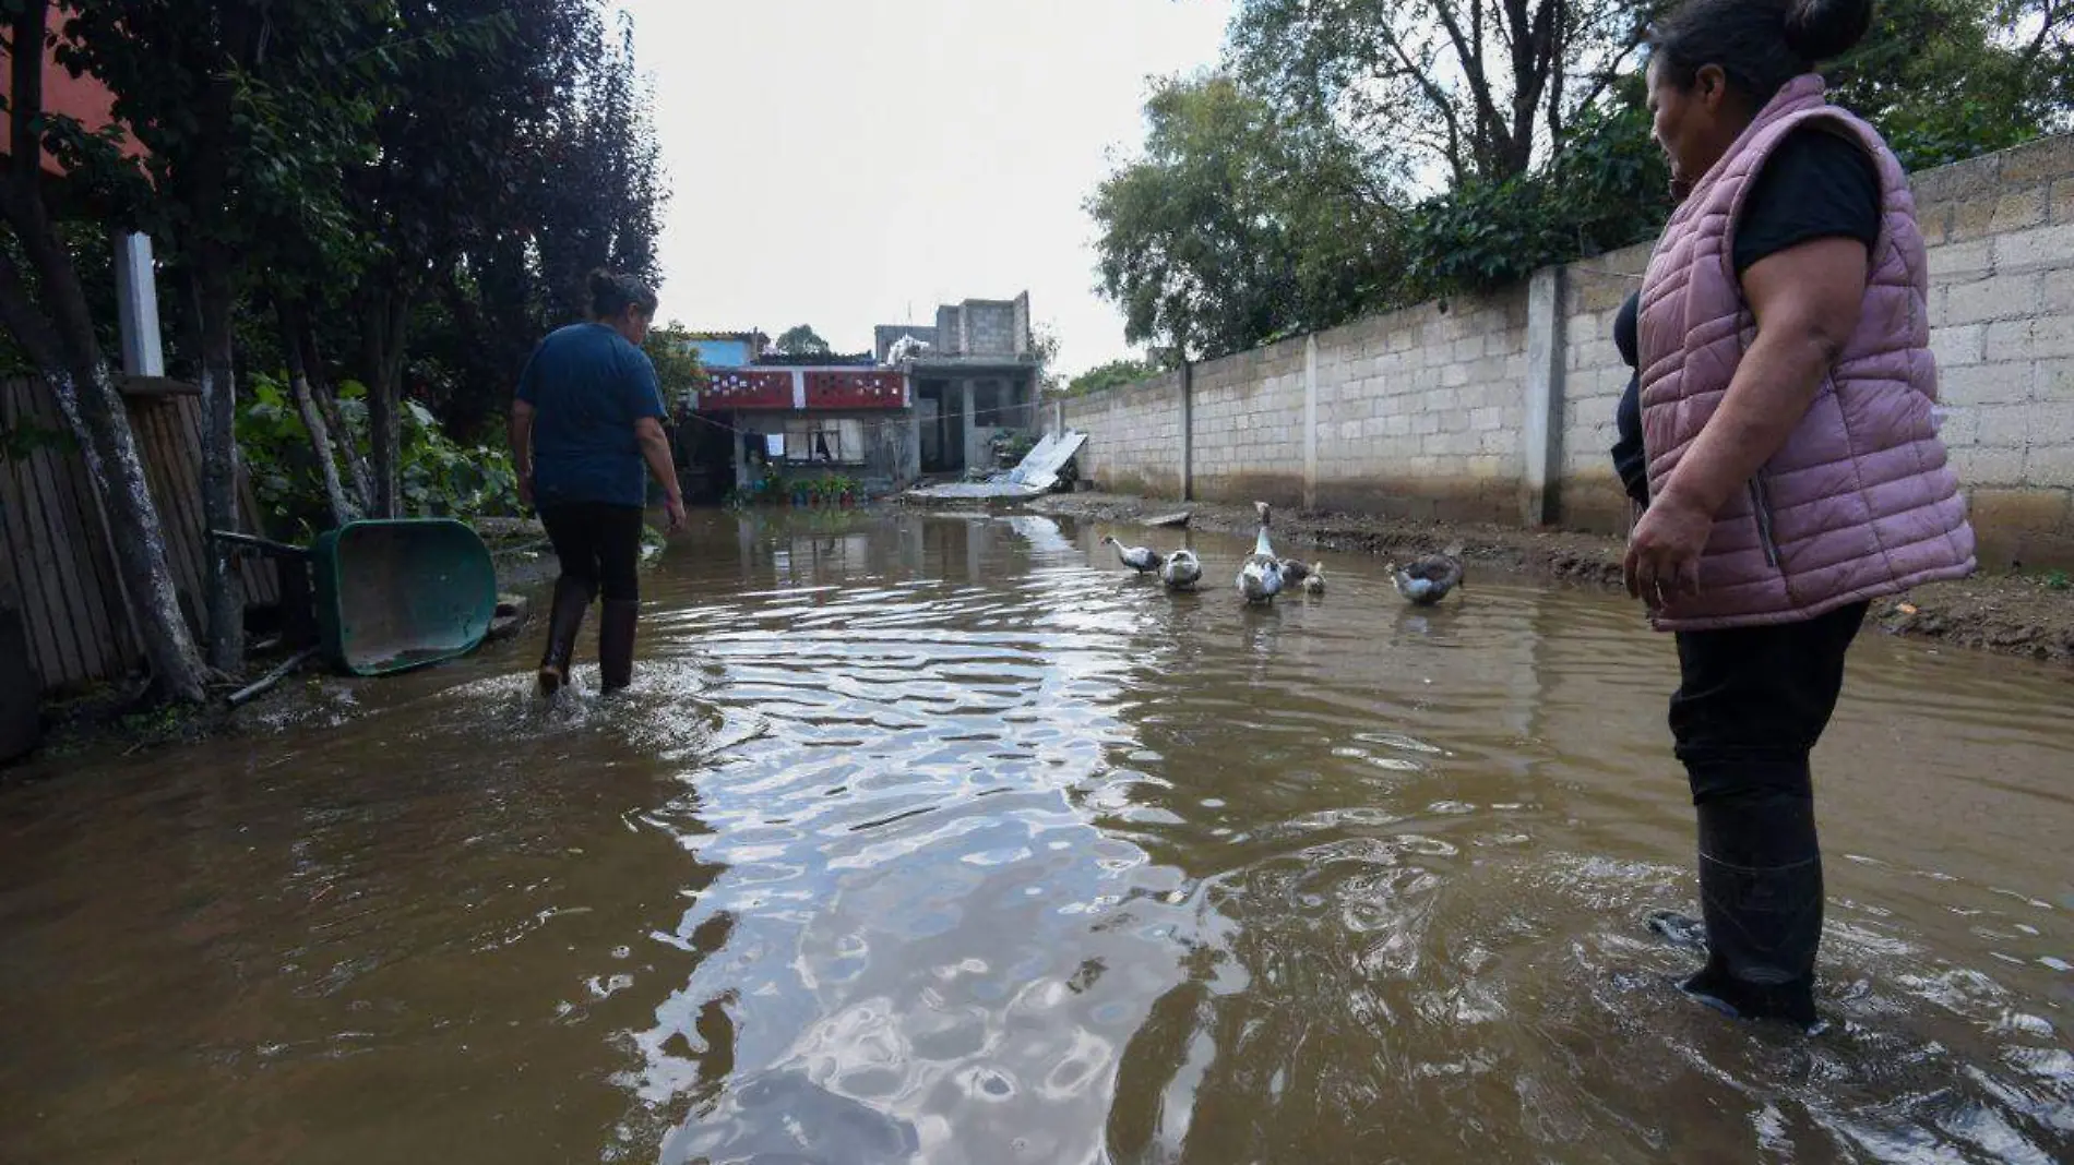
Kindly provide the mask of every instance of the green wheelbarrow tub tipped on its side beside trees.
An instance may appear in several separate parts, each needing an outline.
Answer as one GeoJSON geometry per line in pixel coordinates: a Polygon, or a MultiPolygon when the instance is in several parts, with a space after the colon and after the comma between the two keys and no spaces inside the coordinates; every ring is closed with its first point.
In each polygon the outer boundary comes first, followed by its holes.
{"type": "Polygon", "coordinates": [[[309,547],[326,659],[388,676],[475,651],[498,612],[489,547],[450,518],[346,522],[309,547]]]}

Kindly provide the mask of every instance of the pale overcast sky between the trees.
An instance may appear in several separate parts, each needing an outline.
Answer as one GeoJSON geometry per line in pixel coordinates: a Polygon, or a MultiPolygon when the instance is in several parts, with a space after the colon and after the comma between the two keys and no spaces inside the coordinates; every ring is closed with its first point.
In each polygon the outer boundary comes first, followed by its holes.
{"type": "Polygon", "coordinates": [[[1031,292],[1068,373],[1128,354],[1081,209],[1147,77],[1217,60],[1230,0],[620,0],[674,197],[662,317],[873,323],[1031,292]]]}

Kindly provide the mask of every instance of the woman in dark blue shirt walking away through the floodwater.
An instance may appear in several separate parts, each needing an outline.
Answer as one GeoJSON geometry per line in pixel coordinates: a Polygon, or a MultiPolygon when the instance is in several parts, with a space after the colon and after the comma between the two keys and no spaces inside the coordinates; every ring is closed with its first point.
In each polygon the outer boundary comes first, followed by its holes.
{"type": "Polygon", "coordinates": [[[684,529],[662,388],[641,352],[651,319],[655,292],[641,280],[593,272],[591,321],[541,340],[518,377],[510,421],[518,498],[539,510],[562,566],[539,661],[545,694],[568,682],[583,614],[599,593],[597,686],[616,692],[633,682],[643,466],[664,487],[670,533],[684,529]]]}

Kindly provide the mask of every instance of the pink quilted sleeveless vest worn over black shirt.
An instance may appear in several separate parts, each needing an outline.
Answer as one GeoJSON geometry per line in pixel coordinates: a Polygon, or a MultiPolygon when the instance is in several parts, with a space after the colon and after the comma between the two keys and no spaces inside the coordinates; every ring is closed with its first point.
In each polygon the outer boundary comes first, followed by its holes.
{"type": "Polygon", "coordinates": [[[1821,77],[1779,89],[1692,189],[1649,259],[1641,307],[1649,491],[1721,404],[1757,321],[1734,272],[1734,222],[1765,158],[1802,124],[1865,145],[1881,236],[1858,328],[1786,446],[1713,522],[1701,593],[1653,612],[1657,630],[1809,620],[1972,572],[1972,527],[1931,406],[1929,269],[1908,178],[1873,126],[1827,104],[1821,77]]]}

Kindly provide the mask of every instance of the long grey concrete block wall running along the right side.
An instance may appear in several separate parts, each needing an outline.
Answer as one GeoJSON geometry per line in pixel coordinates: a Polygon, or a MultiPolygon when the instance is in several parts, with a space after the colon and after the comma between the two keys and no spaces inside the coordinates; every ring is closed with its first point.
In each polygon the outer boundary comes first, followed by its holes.
{"type": "MultiPolygon", "coordinates": [[[[2070,566],[2074,137],[1912,189],[1943,439],[1981,562],[2070,566]]],[[[1358,319],[1068,400],[1062,417],[1091,433],[1083,473],[1114,489],[1618,533],[1614,317],[1647,259],[1630,247],[1541,272],[1541,299],[1520,286],[1358,319]]]]}

